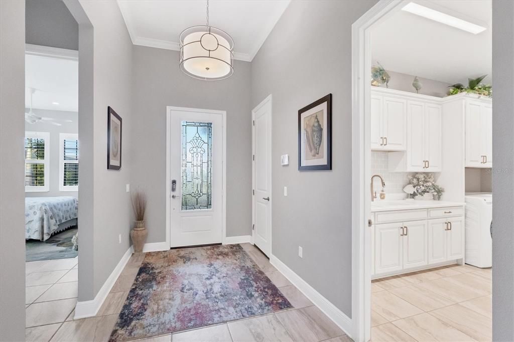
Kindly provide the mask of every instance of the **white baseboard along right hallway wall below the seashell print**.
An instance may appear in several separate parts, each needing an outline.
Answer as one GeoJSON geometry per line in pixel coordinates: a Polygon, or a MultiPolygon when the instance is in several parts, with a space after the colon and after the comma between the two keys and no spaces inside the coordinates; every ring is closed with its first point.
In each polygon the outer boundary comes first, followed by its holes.
{"type": "Polygon", "coordinates": [[[280,271],[294,286],[300,290],[311,302],[314,303],[328,318],[332,319],[334,323],[341,328],[344,333],[350,337],[353,335],[353,321],[350,317],[346,316],[341,310],[331,303],[328,299],[323,297],[318,291],[311,287],[305,280],[298,274],[293,272],[287,267],[285,263],[280,261],[274,255],[269,258],[271,264],[280,271]]]}

